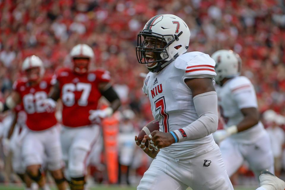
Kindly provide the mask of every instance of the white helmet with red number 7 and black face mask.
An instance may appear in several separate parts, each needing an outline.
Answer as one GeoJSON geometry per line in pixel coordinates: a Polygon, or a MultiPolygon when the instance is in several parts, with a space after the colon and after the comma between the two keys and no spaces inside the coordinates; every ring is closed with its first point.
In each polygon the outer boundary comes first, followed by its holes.
{"type": "Polygon", "coordinates": [[[190,40],[190,30],[186,23],[175,15],[161,14],[151,18],[144,26],[143,31],[137,38],[137,60],[139,63],[155,63],[147,68],[151,72],[159,72],[166,65],[175,60],[179,55],[187,52],[190,40]],[[155,44],[161,43],[160,47],[145,47],[145,38],[156,40],[155,44]],[[146,52],[154,52],[155,60],[146,56],[146,52]]]}

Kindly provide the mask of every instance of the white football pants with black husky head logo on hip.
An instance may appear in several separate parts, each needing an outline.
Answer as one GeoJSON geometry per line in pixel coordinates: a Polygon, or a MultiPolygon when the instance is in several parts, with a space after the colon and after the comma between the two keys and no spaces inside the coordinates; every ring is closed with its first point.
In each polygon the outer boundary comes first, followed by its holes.
{"type": "Polygon", "coordinates": [[[203,155],[178,160],[159,152],[137,190],[234,190],[218,145],[203,155]]]}

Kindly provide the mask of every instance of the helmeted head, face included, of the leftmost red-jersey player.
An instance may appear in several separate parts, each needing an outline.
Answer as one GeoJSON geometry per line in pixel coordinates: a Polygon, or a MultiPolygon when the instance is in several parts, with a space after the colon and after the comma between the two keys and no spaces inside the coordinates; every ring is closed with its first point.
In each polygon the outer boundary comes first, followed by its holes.
{"type": "Polygon", "coordinates": [[[28,81],[37,81],[45,74],[42,60],[35,55],[26,57],[22,64],[22,71],[26,74],[28,81]]]}

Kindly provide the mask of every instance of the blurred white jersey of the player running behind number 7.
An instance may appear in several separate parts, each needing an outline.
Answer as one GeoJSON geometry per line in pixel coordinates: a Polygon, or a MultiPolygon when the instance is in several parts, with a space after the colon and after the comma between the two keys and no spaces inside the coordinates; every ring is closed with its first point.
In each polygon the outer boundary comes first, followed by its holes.
{"type": "MultiPolygon", "coordinates": [[[[220,113],[225,121],[224,128],[238,125],[243,120],[241,109],[258,108],[254,87],[245,76],[237,76],[228,80],[222,87],[216,85],[215,88],[220,113]]],[[[264,133],[266,131],[262,123],[259,122],[245,131],[231,135],[229,138],[241,143],[252,143],[264,133]]]]}

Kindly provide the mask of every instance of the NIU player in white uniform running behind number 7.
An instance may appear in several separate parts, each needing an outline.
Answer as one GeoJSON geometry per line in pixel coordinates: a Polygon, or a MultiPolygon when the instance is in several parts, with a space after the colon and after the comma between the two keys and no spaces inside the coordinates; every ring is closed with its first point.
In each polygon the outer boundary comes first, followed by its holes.
{"type": "Polygon", "coordinates": [[[246,160],[258,177],[265,169],[274,172],[270,138],[259,121],[254,86],[245,76],[240,76],[241,59],[231,50],[219,50],[211,56],[216,62],[216,92],[223,130],[213,136],[219,143],[229,176],[246,160]]]}

